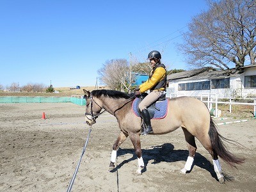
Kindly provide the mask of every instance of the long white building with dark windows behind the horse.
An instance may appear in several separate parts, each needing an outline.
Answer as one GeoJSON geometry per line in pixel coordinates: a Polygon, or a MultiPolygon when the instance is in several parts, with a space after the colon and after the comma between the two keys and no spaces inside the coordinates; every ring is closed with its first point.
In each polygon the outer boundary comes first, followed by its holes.
{"type": "Polygon", "coordinates": [[[188,70],[167,76],[168,97],[200,97],[218,94],[218,98],[256,97],[256,64],[241,67],[232,74],[211,67],[188,70]]]}

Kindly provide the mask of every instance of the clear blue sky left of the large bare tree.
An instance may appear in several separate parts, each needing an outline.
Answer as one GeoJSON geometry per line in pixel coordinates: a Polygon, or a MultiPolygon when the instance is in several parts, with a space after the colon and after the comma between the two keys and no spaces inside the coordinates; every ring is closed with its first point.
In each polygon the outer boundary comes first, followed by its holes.
{"type": "Polygon", "coordinates": [[[107,60],[143,62],[152,50],[185,69],[176,44],[205,10],[205,0],[1,0],[0,84],[94,86],[107,60]]]}

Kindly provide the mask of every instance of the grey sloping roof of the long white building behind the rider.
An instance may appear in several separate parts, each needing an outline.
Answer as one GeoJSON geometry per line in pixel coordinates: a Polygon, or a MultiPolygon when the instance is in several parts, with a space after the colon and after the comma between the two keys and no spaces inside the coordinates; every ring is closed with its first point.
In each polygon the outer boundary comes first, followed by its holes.
{"type": "Polygon", "coordinates": [[[184,72],[179,72],[176,74],[170,74],[167,76],[167,81],[173,80],[193,80],[193,79],[220,79],[230,76],[236,76],[236,69],[233,68],[232,74],[228,74],[224,70],[218,70],[212,67],[204,67],[204,68],[197,68],[194,70],[188,70],[184,72]],[[234,73],[234,74],[233,74],[234,73]]]}

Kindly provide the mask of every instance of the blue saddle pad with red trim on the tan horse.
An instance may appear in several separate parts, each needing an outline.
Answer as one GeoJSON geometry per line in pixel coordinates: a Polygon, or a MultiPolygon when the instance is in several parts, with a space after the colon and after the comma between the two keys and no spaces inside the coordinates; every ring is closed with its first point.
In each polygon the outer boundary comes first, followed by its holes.
{"type": "MultiPolygon", "coordinates": [[[[138,111],[139,100],[140,100],[139,98],[136,98],[132,102],[132,111],[138,117],[140,117],[140,113],[138,111]]],[[[168,99],[165,99],[163,101],[157,101],[153,119],[164,118],[168,112],[168,104],[169,104],[168,99]]]]}

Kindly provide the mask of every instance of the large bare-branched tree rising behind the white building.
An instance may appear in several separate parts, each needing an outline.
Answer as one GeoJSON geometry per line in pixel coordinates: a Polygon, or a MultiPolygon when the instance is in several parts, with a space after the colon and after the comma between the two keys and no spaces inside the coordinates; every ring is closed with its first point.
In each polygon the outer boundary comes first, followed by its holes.
{"type": "Polygon", "coordinates": [[[246,58],[255,63],[256,1],[209,0],[209,10],[197,15],[179,45],[195,67],[213,65],[229,70],[243,67],[246,58]]]}

